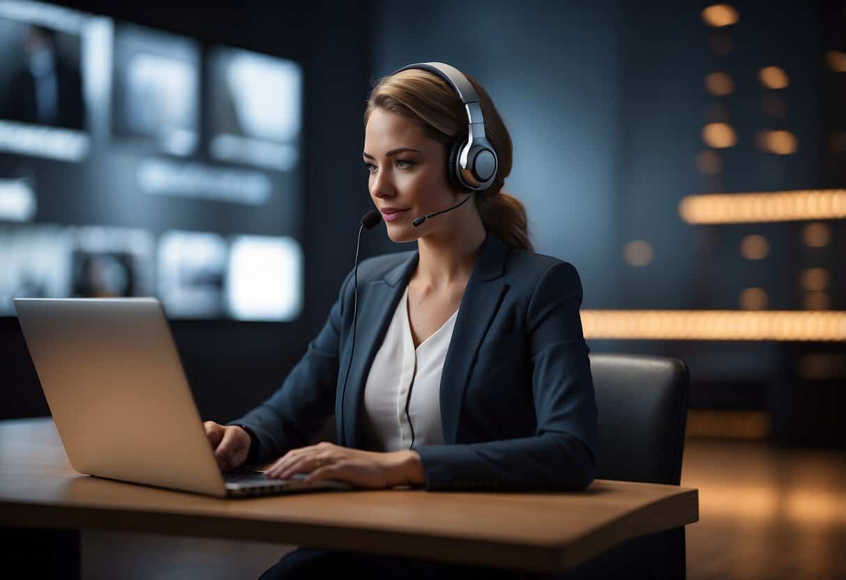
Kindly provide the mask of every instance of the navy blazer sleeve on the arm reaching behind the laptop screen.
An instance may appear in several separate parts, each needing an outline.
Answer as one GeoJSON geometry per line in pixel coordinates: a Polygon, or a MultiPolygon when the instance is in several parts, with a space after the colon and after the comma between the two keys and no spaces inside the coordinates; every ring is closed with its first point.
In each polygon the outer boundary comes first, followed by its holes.
{"type": "Polygon", "coordinates": [[[334,412],[343,298],[352,277],[350,272],[343,281],[338,301],[321,331],[282,386],[250,413],[229,422],[246,427],[250,433],[250,461],[265,462],[307,445],[334,412]]]}

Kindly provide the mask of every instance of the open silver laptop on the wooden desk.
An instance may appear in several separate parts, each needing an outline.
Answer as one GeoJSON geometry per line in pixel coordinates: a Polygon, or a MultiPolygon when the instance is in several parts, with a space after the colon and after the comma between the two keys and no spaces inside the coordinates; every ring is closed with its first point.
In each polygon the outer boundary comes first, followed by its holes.
{"type": "Polygon", "coordinates": [[[76,471],[218,497],[352,489],[221,473],[156,298],[16,298],[14,307],[76,471]]]}

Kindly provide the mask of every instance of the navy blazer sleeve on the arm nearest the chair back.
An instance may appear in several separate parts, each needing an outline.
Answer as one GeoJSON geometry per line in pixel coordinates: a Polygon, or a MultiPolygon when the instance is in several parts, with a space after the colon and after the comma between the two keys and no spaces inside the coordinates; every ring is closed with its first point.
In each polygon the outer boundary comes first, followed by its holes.
{"type": "Polygon", "coordinates": [[[558,261],[541,276],[527,307],[535,435],[415,447],[427,490],[584,490],[591,484],[597,410],[581,299],[575,268],[558,261]]]}

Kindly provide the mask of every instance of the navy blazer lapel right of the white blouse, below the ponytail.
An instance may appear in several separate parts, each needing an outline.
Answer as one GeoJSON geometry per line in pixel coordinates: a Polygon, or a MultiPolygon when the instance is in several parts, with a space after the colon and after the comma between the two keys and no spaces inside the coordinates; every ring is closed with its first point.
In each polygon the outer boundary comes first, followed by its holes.
{"type": "Polygon", "coordinates": [[[441,428],[443,441],[453,444],[459,432],[461,404],[487,329],[499,309],[508,286],[501,279],[508,256],[508,246],[499,238],[488,234],[482,243],[473,273],[464,289],[459,316],[453,327],[447,357],[441,374],[441,428]]]}

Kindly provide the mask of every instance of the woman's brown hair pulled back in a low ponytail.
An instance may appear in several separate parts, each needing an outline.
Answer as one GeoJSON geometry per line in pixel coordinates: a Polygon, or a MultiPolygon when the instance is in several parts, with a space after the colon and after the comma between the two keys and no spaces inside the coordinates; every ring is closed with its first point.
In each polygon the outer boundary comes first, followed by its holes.
{"type": "MultiPolygon", "coordinates": [[[[485,134],[497,151],[497,176],[491,187],[474,195],[481,222],[488,232],[508,245],[532,251],[529,226],[523,204],[503,190],[505,178],[511,172],[511,135],[488,96],[475,79],[464,76],[479,95],[479,105],[485,118],[485,134]]],[[[467,113],[458,94],[435,74],[410,68],[379,80],[371,90],[365,110],[365,126],[376,108],[396,112],[419,123],[431,139],[444,145],[446,155],[453,142],[467,134],[467,113]]]]}

